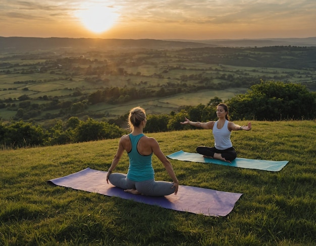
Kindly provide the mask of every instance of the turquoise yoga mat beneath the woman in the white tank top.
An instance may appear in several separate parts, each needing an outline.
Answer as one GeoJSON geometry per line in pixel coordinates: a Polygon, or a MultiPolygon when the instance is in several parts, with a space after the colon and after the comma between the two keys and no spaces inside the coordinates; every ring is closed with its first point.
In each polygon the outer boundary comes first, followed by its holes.
{"type": "Polygon", "coordinates": [[[201,163],[213,163],[224,166],[234,166],[241,168],[250,168],[250,169],[259,169],[265,171],[280,171],[288,161],[269,161],[269,160],[254,160],[254,159],[246,159],[246,158],[236,158],[232,161],[232,163],[204,158],[202,155],[198,153],[188,153],[182,150],[175,152],[171,155],[167,155],[170,159],[180,160],[180,161],[192,161],[192,162],[201,162],[201,163]]]}

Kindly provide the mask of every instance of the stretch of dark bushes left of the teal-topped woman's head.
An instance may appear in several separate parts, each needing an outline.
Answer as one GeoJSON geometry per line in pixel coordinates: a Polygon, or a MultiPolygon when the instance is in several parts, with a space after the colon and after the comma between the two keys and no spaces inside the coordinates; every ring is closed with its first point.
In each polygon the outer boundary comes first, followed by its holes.
{"type": "Polygon", "coordinates": [[[80,120],[70,117],[67,121],[58,120],[49,128],[34,125],[23,120],[10,124],[0,123],[0,147],[22,148],[35,146],[49,146],[69,143],[97,141],[118,138],[126,130],[104,121],[80,120]]]}

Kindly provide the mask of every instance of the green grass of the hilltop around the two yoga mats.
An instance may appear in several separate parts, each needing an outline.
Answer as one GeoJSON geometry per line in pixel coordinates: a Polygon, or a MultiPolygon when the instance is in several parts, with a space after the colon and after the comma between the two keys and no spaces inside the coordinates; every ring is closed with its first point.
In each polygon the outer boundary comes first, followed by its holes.
{"type": "MultiPolygon", "coordinates": [[[[171,160],[181,185],[243,193],[226,217],[47,183],[86,167],[108,170],[119,139],[0,151],[0,245],[315,245],[316,122],[253,121],[252,128],[233,132],[238,156],[288,160],[281,171],[171,160]]],[[[166,155],[213,144],[207,130],[148,136],[166,155]]],[[[153,167],[157,180],[170,180],[156,157],[153,167]]],[[[125,153],[116,171],[127,168],[125,153]]]]}

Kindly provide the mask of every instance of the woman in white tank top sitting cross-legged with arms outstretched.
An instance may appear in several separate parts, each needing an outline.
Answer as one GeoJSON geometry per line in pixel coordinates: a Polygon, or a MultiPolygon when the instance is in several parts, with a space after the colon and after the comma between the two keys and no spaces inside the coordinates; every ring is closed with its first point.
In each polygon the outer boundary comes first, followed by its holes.
{"type": "Polygon", "coordinates": [[[231,132],[240,130],[250,131],[251,122],[248,122],[247,126],[239,126],[234,122],[229,121],[228,107],[225,103],[217,105],[216,114],[219,118],[217,121],[195,122],[185,118],[185,121],[180,122],[180,124],[191,125],[203,129],[212,129],[215,141],[214,147],[199,146],[196,148],[197,153],[206,158],[231,162],[237,156],[230,140],[231,132]]]}

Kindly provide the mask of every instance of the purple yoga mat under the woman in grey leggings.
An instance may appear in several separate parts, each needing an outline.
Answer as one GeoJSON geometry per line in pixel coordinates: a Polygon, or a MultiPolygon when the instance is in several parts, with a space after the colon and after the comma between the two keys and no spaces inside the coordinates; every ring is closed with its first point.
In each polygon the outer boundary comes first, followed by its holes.
{"type": "Polygon", "coordinates": [[[203,214],[207,216],[226,216],[229,214],[242,194],[221,192],[192,186],[179,186],[177,195],[150,197],[133,195],[108,184],[107,171],[86,168],[70,175],[54,178],[48,182],[57,186],[94,192],[106,196],[115,196],[167,209],[203,214]]]}

